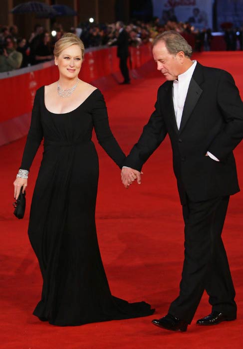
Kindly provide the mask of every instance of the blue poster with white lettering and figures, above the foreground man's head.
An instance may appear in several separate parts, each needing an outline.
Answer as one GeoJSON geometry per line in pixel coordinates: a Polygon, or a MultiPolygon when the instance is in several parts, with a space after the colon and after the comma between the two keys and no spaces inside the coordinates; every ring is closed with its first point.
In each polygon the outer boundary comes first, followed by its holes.
{"type": "Polygon", "coordinates": [[[212,0],[153,0],[153,14],[161,24],[168,20],[190,22],[196,29],[212,28],[212,0]]]}

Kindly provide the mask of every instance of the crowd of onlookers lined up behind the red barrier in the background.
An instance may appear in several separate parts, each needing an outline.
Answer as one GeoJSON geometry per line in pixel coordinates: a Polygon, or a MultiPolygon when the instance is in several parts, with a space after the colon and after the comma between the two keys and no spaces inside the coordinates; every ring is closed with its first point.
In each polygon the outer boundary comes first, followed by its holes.
{"type": "MultiPolygon", "coordinates": [[[[183,34],[193,34],[195,38],[195,51],[210,50],[211,30],[195,29],[189,22],[183,23],[176,20],[167,20],[165,24],[159,23],[159,18],[152,22],[134,21],[125,26],[129,34],[129,44],[133,47],[152,42],[154,38],[167,30],[176,30],[183,34]]],[[[54,24],[52,36],[42,25],[36,24],[29,38],[21,37],[16,25],[0,27],[0,72],[27,67],[40,62],[53,59],[55,42],[62,37],[64,30],[61,24],[54,24]]],[[[75,33],[84,43],[85,48],[116,45],[118,31],[115,23],[95,24],[83,23],[78,28],[71,27],[69,32],[75,33]]],[[[225,40],[227,50],[237,49],[237,39],[242,49],[243,34],[237,36],[237,30],[226,30],[225,40]]]]}

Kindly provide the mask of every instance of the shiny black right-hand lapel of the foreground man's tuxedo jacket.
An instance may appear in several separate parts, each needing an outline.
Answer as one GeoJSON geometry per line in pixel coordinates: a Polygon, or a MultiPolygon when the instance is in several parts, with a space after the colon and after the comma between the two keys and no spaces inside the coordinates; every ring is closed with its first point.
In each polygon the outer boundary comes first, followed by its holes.
{"type": "Polygon", "coordinates": [[[195,108],[198,100],[203,92],[202,88],[199,86],[203,82],[203,69],[202,65],[197,63],[195,71],[193,73],[192,79],[189,84],[187,97],[185,100],[182,121],[179,129],[179,133],[184,129],[188,119],[190,118],[193,109],[195,108]]]}

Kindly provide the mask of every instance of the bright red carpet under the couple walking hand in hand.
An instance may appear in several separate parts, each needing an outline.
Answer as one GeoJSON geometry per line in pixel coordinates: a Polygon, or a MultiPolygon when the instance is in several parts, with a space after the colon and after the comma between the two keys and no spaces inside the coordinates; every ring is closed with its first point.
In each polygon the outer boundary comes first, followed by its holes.
{"type": "MultiPolygon", "coordinates": [[[[243,97],[242,52],[203,53],[197,55],[197,59],[205,65],[230,71],[243,97]]],[[[154,71],[146,79],[133,80],[131,85],[117,86],[104,93],[111,128],[126,154],[153,111],[157,88],[162,82],[154,65],[154,71]]],[[[29,176],[27,214],[24,220],[17,220],[12,214],[12,182],[24,142],[25,139],[21,139],[0,148],[0,348],[242,348],[242,192],[231,198],[223,236],[237,292],[238,320],[214,327],[197,327],[196,320],[211,310],[204,295],[188,332],[166,332],[151,325],[151,320],[164,315],[178,295],[183,262],[183,221],[168,138],[144,166],[142,184],[133,184],[128,190],[120,183],[119,169],[97,145],[100,160],[97,231],[110,288],[117,297],[151,303],[156,315],[74,328],[54,327],[32,316],[40,297],[41,277],[27,238],[27,218],[41,150],[29,176]]],[[[241,188],[242,152],[243,143],[235,151],[241,188]]]]}

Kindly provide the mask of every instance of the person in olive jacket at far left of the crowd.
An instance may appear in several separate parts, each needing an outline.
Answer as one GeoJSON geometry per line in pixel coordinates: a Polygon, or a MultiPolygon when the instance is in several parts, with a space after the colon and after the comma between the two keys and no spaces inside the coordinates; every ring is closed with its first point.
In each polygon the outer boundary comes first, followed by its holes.
{"type": "Polygon", "coordinates": [[[23,56],[15,50],[14,45],[12,37],[7,36],[0,47],[0,72],[20,68],[23,56]]]}

